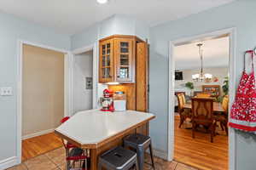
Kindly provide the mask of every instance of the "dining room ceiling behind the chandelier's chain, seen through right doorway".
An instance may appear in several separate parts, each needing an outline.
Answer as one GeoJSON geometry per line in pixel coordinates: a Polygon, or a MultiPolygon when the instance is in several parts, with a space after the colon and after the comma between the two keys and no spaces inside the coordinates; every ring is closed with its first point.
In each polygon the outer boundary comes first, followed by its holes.
{"type": "MultiPolygon", "coordinates": [[[[200,68],[199,42],[191,42],[174,48],[175,68],[188,70],[200,68]]],[[[230,54],[229,37],[203,41],[203,67],[228,67],[230,54]]]]}

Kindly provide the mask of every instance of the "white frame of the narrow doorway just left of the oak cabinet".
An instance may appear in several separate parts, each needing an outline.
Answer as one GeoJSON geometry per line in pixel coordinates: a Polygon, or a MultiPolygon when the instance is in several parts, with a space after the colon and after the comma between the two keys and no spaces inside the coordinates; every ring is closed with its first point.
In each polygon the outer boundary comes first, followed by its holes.
{"type": "MultiPolygon", "coordinates": [[[[92,50],[93,51],[93,59],[92,59],[92,63],[93,63],[93,66],[92,66],[92,108],[93,109],[96,109],[97,108],[97,96],[98,96],[98,87],[97,87],[97,82],[98,82],[98,58],[96,57],[97,56],[97,43],[93,43],[93,44],[90,44],[88,46],[85,46],[83,48],[76,48],[72,51],[71,53],[71,78],[72,78],[72,81],[71,81],[71,89],[72,89],[72,101],[74,102],[74,93],[73,93],[73,77],[74,77],[74,56],[76,54],[82,54],[82,53],[85,53],[85,52],[88,52],[92,50]]],[[[72,102],[72,106],[71,106],[71,111],[72,113],[74,114],[74,108],[73,108],[73,102],[72,102]]]]}

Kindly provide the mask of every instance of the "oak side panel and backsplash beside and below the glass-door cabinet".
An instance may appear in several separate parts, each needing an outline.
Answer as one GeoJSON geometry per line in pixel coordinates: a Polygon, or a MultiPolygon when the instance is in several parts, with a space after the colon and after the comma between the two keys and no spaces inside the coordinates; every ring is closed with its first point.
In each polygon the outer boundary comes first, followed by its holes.
{"type": "MultiPolygon", "coordinates": [[[[148,111],[148,43],[136,43],[136,77],[135,83],[108,85],[115,91],[126,94],[127,110],[148,111]]],[[[148,135],[148,123],[137,128],[137,133],[148,135]]]]}

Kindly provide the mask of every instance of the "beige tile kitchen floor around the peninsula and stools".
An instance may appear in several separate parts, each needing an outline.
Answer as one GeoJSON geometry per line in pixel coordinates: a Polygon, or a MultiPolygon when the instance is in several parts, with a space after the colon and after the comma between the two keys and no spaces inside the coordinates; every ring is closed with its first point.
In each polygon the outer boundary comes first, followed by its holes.
{"type": "MultiPolygon", "coordinates": [[[[152,170],[150,166],[150,157],[145,158],[144,170],[152,170]]],[[[158,157],[154,157],[155,170],[195,170],[176,161],[164,161],[158,157]]],[[[66,170],[65,149],[63,147],[49,151],[41,156],[34,157],[24,161],[19,166],[11,167],[8,170],[66,170]]]]}

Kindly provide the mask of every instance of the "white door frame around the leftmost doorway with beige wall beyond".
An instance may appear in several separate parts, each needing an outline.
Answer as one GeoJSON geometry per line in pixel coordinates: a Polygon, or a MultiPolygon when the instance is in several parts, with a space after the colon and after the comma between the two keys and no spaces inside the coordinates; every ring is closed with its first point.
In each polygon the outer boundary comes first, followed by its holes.
{"type": "Polygon", "coordinates": [[[72,103],[72,91],[70,87],[70,59],[71,53],[66,49],[54,48],[38,42],[28,42],[25,40],[17,41],[17,138],[16,138],[16,154],[17,164],[21,163],[22,156],[22,62],[23,62],[23,45],[32,45],[38,48],[46,48],[64,54],[64,116],[71,115],[70,104],[72,103]]]}

